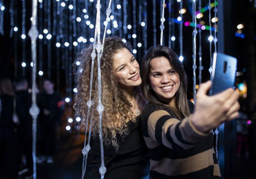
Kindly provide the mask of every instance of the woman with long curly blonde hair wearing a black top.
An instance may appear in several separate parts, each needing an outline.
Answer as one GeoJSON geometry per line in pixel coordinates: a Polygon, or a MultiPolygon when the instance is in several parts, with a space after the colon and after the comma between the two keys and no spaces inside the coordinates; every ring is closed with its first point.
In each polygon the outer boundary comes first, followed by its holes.
{"type": "MultiPolygon", "coordinates": [[[[75,109],[85,119],[89,100],[90,57],[93,46],[78,54],[81,65],[76,74],[78,93],[75,97],[75,109]]],[[[128,43],[118,37],[105,39],[101,58],[102,74],[102,136],[104,141],[106,179],[142,179],[148,177],[148,151],[139,127],[140,112],[144,100],[140,92],[140,66],[131,54],[128,43]]],[[[96,57],[97,58],[97,57],[96,57]]],[[[93,68],[92,99],[98,105],[97,64],[93,68]]],[[[96,108],[93,116],[93,142],[89,157],[91,164],[87,168],[86,178],[100,178],[99,114],[96,108]]]]}

